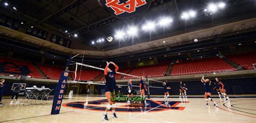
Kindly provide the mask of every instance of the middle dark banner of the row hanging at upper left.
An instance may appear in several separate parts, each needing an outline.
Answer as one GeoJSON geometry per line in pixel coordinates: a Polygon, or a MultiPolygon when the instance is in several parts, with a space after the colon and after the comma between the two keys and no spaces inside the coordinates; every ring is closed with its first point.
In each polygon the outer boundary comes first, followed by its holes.
{"type": "Polygon", "coordinates": [[[33,37],[37,37],[37,38],[41,38],[43,40],[46,40],[47,36],[48,36],[48,32],[38,29],[38,28],[28,28],[25,32],[26,34],[33,36],[33,37]]]}

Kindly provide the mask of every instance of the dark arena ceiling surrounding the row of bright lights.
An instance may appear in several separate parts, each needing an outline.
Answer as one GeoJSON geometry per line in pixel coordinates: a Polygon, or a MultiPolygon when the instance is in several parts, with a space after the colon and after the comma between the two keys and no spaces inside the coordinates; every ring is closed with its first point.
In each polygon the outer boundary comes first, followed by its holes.
{"type": "MultiPolygon", "coordinates": [[[[63,36],[74,36],[74,34],[78,34],[78,37],[73,38],[76,38],[83,44],[93,47],[97,51],[116,50],[122,47],[147,43],[153,40],[156,41],[167,37],[256,17],[256,3],[253,0],[153,0],[152,2],[155,3],[150,9],[129,18],[114,17],[100,6],[96,0],[10,0],[8,2],[12,5],[16,5],[17,8],[17,11],[11,11],[10,15],[12,14],[17,18],[26,21],[27,23],[25,23],[25,26],[43,25],[46,28],[62,33],[63,36]],[[79,4],[75,5],[76,2],[79,2],[79,4]],[[224,2],[226,3],[226,6],[217,13],[210,14],[204,12],[207,4],[212,2],[224,2]],[[63,12],[63,10],[69,7],[69,10],[63,12]],[[182,13],[190,10],[197,11],[196,17],[187,20],[181,19],[182,13]],[[131,24],[143,26],[147,20],[154,20],[160,17],[171,17],[173,22],[169,27],[156,29],[152,33],[139,32],[139,36],[133,39],[125,38],[123,40],[114,40],[112,43],[104,42],[92,44],[92,41],[96,42],[98,39],[105,39],[109,36],[114,37],[114,33],[117,30],[125,29],[131,24]],[[89,31],[84,31],[85,28],[110,19],[110,23],[106,25],[98,26],[89,31]]],[[[1,10],[3,9],[4,8],[1,8],[1,10]]],[[[222,32],[223,30],[217,31],[222,32]]],[[[232,30],[230,31],[232,32],[232,30]]],[[[190,35],[186,39],[176,39],[170,42],[180,43],[182,41],[189,41],[193,38],[204,38],[203,36],[211,35],[212,33],[214,32],[201,32],[198,36],[190,35]]],[[[163,42],[163,40],[160,41],[163,42]]],[[[152,44],[153,47],[160,45],[162,44],[159,44],[158,42],[152,44]]],[[[152,46],[145,46],[147,45],[143,46],[145,49],[152,48],[152,46]]],[[[141,49],[139,45],[136,48],[141,49]]],[[[131,52],[134,51],[132,50],[132,47],[129,47],[129,49],[131,52]]]]}

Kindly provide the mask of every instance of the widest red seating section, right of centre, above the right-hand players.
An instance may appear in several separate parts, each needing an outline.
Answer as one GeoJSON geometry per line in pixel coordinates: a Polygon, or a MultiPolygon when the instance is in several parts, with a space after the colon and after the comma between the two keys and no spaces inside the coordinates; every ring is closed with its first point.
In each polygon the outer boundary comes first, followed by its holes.
{"type": "Polygon", "coordinates": [[[235,71],[234,67],[227,64],[226,61],[216,58],[204,58],[197,60],[183,61],[180,64],[172,66],[171,76],[181,76],[189,74],[213,73],[235,71]]]}

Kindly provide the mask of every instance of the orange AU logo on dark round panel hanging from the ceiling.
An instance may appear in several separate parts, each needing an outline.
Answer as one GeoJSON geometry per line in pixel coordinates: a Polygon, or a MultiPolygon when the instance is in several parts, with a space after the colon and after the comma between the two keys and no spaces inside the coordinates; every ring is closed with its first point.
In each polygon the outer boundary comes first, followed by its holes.
{"type": "Polygon", "coordinates": [[[151,0],[98,0],[100,5],[116,17],[131,17],[147,10],[151,0]]]}

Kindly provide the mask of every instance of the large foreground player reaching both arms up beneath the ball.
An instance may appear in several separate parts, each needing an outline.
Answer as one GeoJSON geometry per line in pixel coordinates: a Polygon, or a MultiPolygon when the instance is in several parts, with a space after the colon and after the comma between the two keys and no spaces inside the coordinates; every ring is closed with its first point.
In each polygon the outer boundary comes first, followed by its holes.
{"type": "MultiPolygon", "coordinates": [[[[116,103],[114,101],[111,101],[111,93],[114,91],[117,91],[117,84],[116,84],[116,79],[114,78],[114,74],[116,74],[116,72],[118,71],[118,66],[116,64],[114,64],[112,61],[107,62],[106,61],[106,67],[104,70],[104,75],[105,75],[105,80],[106,80],[106,84],[105,84],[105,95],[107,98],[107,101],[109,102],[109,104],[107,104],[106,106],[106,110],[104,112],[104,120],[107,121],[109,120],[107,118],[107,112],[110,110],[110,108],[112,108],[112,116],[113,118],[117,118],[115,109],[116,109],[116,103]],[[116,69],[114,71],[111,71],[109,69],[109,65],[112,64],[114,65],[114,67],[116,67],[116,69]]],[[[114,95],[113,95],[114,96],[114,95]]]]}

